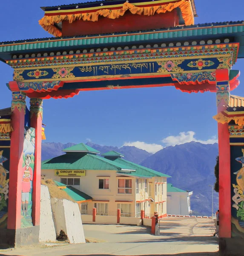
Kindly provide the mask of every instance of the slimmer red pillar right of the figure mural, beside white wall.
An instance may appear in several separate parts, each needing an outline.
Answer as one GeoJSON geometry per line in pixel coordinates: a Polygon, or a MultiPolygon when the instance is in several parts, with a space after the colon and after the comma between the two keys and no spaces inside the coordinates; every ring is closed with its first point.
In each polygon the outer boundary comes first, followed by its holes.
{"type": "Polygon", "coordinates": [[[35,153],[32,192],[32,222],[34,226],[40,225],[40,180],[41,180],[41,142],[42,142],[42,119],[43,100],[30,99],[31,124],[35,129],[35,153]]]}

